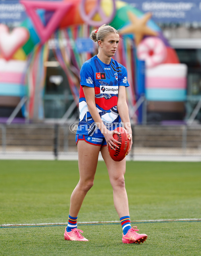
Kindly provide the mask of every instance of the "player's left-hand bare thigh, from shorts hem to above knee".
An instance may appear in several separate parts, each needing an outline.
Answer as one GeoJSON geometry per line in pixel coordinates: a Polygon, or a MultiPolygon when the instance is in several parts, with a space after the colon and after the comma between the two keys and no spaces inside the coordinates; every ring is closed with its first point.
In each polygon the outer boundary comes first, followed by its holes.
{"type": "Polygon", "coordinates": [[[100,146],[91,145],[84,140],[77,142],[80,179],[94,178],[100,146]]]}

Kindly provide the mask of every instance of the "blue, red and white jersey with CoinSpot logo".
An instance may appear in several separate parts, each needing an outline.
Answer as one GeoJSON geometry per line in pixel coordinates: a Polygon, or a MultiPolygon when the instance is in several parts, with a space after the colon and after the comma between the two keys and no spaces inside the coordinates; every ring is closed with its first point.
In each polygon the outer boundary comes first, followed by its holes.
{"type": "Polygon", "coordinates": [[[100,61],[95,55],[84,62],[80,70],[80,99],[79,125],[77,134],[103,137],[96,123],[89,113],[83,86],[93,87],[95,90],[96,109],[109,130],[114,130],[121,123],[117,111],[119,86],[128,87],[127,70],[116,60],[111,59],[109,65],[100,61]]]}

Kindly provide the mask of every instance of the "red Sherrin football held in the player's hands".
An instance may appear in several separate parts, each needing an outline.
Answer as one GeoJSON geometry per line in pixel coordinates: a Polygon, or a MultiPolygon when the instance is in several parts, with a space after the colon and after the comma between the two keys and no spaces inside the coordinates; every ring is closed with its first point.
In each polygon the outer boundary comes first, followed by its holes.
{"type": "Polygon", "coordinates": [[[121,142],[121,144],[115,143],[116,145],[119,146],[119,148],[117,148],[116,150],[113,150],[109,147],[109,153],[113,160],[119,162],[123,160],[124,157],[126,156],[130,146],[130,141],[128,139],[129,138],[128,133],[123,127],[117,127],[114,131],[117,131],[120,133],[120,134],[115,133],[113,135],[113,138],[116,141],[121,142]]]}

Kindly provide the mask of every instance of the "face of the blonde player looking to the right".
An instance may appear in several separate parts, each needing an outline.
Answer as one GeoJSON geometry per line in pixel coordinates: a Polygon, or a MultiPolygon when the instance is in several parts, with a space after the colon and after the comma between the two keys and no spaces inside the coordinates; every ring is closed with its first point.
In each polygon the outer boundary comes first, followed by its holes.
{"type": "Polygon", "coordinates": [[[102,50],[105,55],[108,57],[112,57],[115,55],[119,43],[119,35],[118,34],[110,34],[105,37],[104,41],[102,41],[102,50]]]}

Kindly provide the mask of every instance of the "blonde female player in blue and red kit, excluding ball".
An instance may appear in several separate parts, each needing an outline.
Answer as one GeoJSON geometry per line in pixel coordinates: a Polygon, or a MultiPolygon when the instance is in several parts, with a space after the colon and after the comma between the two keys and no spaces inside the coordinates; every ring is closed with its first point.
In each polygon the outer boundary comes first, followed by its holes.
{"type": "Polygon", "coordinates": [[[147,238],[138,234],[137,227],[131,227],[128,198],[125,189],[124,174],[126,159],[114,161],[108,152],[120,144],[113,138],[118,133],[114,129],[121,121],[129,134],[132,146],[132,130],[126,103],[126,68],[112,57],[119,43],[119,34],[109,25],[102,25],[91,32],[90,38],[98,44],[98,54],[87,60],[80,70],[80,118],[76,133],[78,148],[78,166],[80,180],[70,198],[68,226],[65,240],[88,241],[77,229],[77,216],[82,202],[93,186],[99,151],[106,163],[110,183],[113,188],[114,206],[123,228],[123,243],[140,243],[147,238]]]}

